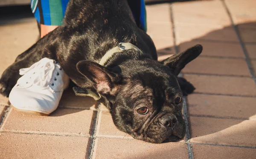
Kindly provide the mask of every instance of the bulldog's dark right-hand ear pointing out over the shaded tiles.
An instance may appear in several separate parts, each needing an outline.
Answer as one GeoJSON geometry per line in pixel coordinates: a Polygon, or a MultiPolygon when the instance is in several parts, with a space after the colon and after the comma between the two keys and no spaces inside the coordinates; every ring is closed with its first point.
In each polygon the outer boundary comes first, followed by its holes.
{"type": "Polygon", "coordinates": [[[203,46],[201,45],[194,45],[189,49],[186,49],[184,52],[180,52],[178,54],[172,55],[169,58],[166,58],[161,63],[168,66],[170,69],[173,70],[174,74],[177,76],[181,69],[183,69],[186,64],[190,61],[194,60],[198,55],[201,54],[203,50],[203,46]]]}

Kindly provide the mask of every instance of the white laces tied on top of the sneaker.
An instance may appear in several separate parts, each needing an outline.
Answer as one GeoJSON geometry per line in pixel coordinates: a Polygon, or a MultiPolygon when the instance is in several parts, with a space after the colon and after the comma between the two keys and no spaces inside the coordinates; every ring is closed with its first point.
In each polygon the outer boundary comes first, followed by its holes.
{"type": "Polygon", "coordinates": [[[26,83],[47,87],[52,80],[55,63],[52,59],[43,58],[29,68],[20,69],[20,75],[23,76],[18,80],[18,83],[21,85],[26,83]]]}

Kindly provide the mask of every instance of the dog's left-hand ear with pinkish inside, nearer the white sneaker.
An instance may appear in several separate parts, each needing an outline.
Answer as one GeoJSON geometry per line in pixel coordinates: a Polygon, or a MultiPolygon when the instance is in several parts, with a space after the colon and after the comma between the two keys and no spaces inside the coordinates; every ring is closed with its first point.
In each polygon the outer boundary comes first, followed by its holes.
{"type": "Polygon", "coordinates": [[[118,74],[92,61],[79,61],[76,64],[76,68],[82,75],[93,82],[99,93],[109,93],[113,84],[119,79],[118,74]]]}

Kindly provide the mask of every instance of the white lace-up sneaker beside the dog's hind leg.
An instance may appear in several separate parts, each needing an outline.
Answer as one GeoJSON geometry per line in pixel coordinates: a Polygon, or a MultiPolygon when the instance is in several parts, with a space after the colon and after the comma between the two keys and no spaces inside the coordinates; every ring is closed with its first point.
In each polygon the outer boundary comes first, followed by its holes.
{"type": "Polygon", "coordinates": [[[20,69],[20,75],[9,95],[10,103],[17,110],[45,116],[57,109],[70,81],[60,64],[49,58],[20,69]]]}

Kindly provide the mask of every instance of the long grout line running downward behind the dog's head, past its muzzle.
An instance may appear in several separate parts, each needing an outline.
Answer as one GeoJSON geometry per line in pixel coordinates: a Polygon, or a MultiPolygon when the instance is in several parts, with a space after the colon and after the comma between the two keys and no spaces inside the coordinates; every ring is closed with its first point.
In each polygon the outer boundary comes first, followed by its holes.
{"type": "MultiPolygon", "coordinates": [[[[170,17],[171,17],[171,23],[172,23],[173,45],[174,45],[174,48],[175,48],[175,54],[177,54],[179,50],[178,50],[177,43],[176,43],[175,24],[174,24],[172,3],[170,4],[169,12],[170,12],[169,14],[171,14],[170,17]]],[[[181,77],[183,77],[183,73],[180,73],[180,75],[181,75],[181,77]]],[[[190,139],[190,134],[189,134],[189,122],[188,122],[188,115],[187,115],[186,97],[183,98],[183,117],[184,117],[185,124],[186,124],[186,138],[185,138],[185,141],[186,141],[187,146],[188,146],[188,157],[189,157],[189,159],[194,159],[192,146],[190,145],[189,142],[187,142],[190,139]]]]}

